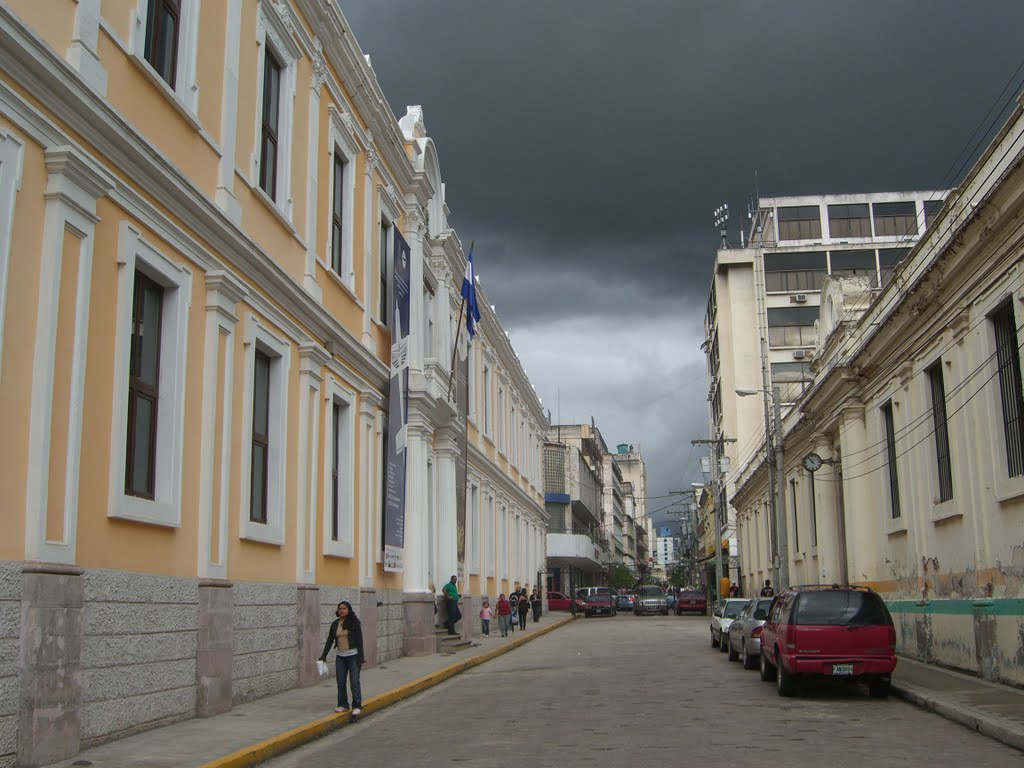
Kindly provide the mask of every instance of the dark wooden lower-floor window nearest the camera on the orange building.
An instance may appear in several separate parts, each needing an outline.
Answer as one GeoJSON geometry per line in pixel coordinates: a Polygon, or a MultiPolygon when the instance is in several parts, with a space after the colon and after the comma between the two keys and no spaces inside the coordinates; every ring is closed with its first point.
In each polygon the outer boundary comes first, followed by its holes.
{"type": "Polygon", "coordinates": [[[164,289],[135,272],[128,364],[128,436],[125,493],[153,499],[157,483],[157,406],[160,400],[160,331],[164,289]]]}

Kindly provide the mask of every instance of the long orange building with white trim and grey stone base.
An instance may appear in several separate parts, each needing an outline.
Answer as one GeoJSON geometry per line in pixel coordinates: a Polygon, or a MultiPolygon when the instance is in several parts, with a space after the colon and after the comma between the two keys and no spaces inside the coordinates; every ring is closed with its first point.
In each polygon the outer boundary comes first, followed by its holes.
{"type": "Polygon", "coordinates": [[[537,583],[547,420],[482,288],[453,404],[437,150],[337,3],[12,0],[0,56],[0,765],[313,684],[342,599],[375,664],[537,583]]]}

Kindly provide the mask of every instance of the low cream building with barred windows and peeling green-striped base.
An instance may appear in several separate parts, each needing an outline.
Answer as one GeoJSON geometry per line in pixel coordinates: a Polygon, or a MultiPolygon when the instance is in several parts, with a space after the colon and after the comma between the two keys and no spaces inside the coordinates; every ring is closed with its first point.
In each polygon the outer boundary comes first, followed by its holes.
{"type": "MultiPolygon", "coordinates": [[[[792,583],[869,586],[886,598],[900,653],[1016,685],[1022,156],[1018,102],[881,289],[869,275],[824,280],[808,388],[783,419],[778,526],[792,583]]],[[[881,213],[910,215],[895,205],[881,213]]],[[[734,480],[744,550],[770,532],[765,449],[755,441],[734,480]]],[[[763,558],[742,567],[748,584],[770,575],[763,558]]]]}

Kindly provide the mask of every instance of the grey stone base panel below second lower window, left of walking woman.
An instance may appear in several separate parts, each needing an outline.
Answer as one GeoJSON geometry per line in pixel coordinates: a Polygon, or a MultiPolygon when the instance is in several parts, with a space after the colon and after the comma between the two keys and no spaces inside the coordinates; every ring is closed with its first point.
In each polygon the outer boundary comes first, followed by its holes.
{"type": "Polygon", "coordinates": [[[293,584],[234,583],[232,703],[298,685],[298,590],[293,584]]]}

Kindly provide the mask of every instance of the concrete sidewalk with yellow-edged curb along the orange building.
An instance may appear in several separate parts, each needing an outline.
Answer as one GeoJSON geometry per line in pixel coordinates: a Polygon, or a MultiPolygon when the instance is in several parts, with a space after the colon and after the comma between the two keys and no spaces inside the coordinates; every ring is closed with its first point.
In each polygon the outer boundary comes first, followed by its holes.
{"type": "MultiPolygon", "coordinates": [[[[362,716],[437,685],[460,672],[512,650],[572,618],[545,613],[526,631],[501,637],[497,621],[490,637],[474,637],[473,645],[454,655],[402,656],[362,671],[362,716]]],[[[336,715],[333,676],[308,688],[293,688],[239,705],[223,715],[184,720],[143,731],[79,753],[49,768],[90,765],[93,768],[243,768],[257,765],[346,725],[336,715]],[[83,761],[88,761],[85,763],[83,761]]]]}

